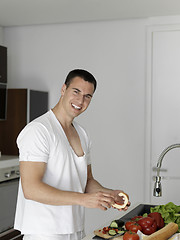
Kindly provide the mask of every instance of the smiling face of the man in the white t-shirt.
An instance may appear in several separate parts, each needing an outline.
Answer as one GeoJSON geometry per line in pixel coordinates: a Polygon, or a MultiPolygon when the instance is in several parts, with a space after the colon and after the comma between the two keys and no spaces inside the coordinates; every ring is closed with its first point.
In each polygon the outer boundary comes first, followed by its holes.
{"type": "Polygon", "coordinates": [[[66,113],[74,118],[84,112],[92,99],[94,85],[80,77],[75,77],[69,87],[61,89],[62,104],[66,113]]]}

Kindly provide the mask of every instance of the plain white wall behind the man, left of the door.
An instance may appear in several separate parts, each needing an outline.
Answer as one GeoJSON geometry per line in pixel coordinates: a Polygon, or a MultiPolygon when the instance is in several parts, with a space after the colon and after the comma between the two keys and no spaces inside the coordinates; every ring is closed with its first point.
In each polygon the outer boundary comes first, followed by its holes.
{"type": "MultiPolygon", "coordinates": [[[[125,190],[132,204],[144,201],[146,24],[140,19],[4,30],[10,88],[48,90],[53,107],[70,70],[95,75],[97,92],[79,117],[93,141],[93,173],[103,185],[125,190]]],[[[117,214],[87,209],[87,232],[117,214]]]]}

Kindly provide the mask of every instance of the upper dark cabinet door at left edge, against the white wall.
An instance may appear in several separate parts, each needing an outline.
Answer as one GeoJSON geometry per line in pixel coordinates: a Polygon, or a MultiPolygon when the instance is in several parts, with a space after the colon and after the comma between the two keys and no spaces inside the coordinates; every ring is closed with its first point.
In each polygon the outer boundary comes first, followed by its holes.
{"type": "Polygon", "coordinates": [[[7,48],[0,46],[0,82],[7,83],[7,48]]]}

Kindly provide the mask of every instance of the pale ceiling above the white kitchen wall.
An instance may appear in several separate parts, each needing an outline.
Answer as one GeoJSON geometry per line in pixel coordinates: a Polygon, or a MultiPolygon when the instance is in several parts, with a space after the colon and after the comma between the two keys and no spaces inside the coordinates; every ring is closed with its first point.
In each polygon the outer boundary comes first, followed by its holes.
{"type": "Polygon", "coordinates": [[[180,0],[0,0],[0,26],[180,15],[180,0]]]}

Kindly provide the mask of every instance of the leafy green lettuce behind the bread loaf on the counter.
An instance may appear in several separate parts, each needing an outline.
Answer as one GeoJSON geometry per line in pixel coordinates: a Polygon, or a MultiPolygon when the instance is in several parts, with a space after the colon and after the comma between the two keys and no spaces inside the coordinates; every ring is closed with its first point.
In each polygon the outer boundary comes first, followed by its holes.
{"type": "Polygon", "coordinates": [[[158,205],[150,209],[152,212],[161,213],[162,218],[164,219],[165,225],[170,222],[177,223],[179,226],[178,232],[180,232],[180,205],[175,205],[172,202],[169,202],[165,205],[158,205]]]}

